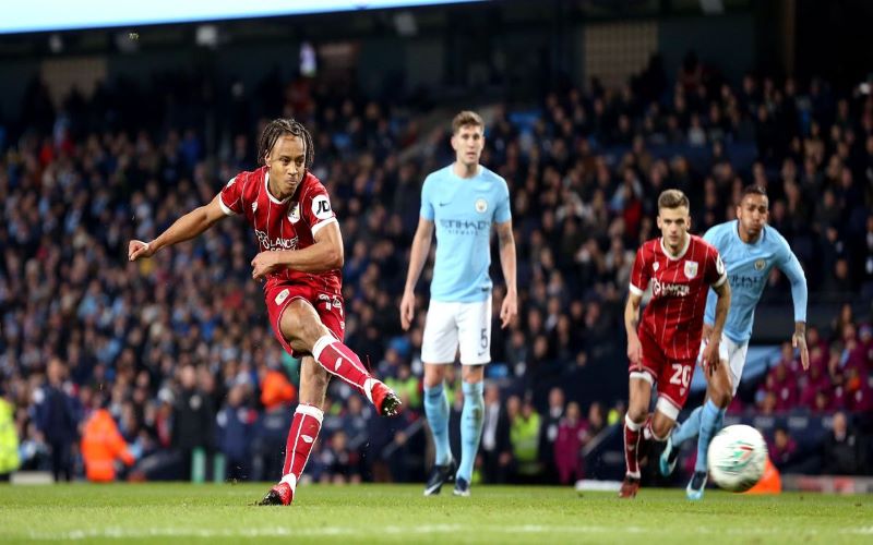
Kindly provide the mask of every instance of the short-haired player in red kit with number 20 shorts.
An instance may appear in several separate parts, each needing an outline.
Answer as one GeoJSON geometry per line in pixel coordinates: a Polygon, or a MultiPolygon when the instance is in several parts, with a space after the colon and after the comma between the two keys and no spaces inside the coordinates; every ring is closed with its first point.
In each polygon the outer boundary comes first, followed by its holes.
{"type": "Polygon", "coordinates": [[[647,441],[663,441],[685,404],[701,347],[706,295],[718,295],[716,319],[701,365],[718,365],[718,344],[730,306],[730,286],[718,251],[689,233],[689,199],[679,190],[658,197],[661,237],[645,242],[631,272],[631,293],[624,308],[630,360],[630,402],[624,416],[626,473],[619,496],[632,498],[639,488],[639,451],[647,441]],[[639,320],[643,292],[651,300],[639,320]],[[649,417],[651,387],[658,390],[649,417]]]}

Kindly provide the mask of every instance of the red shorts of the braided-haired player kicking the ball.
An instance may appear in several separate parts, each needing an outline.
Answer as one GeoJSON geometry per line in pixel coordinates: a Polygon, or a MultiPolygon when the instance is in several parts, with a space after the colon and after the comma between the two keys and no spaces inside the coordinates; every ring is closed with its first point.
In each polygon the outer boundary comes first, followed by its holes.
{"type": "Polygon", "coordinates": [[[285,308],[288,307],[291,301],[298,299],[308,301],[315,308],[321,323],[331,330],[334,337],[340,341],[343,340],[346,332],[346,318],[343,311],[343,295],[339,292],[327,292],[300,283],[277,282],[264,291],[264,301],[266,302],[266,311],[270,315],[270,325],[273,327],[273,334],[286,352],[295,358],[307,355],[306,353],[294,351],[285,337],[283,337],[282,327],[279,327],[279,320],[285,308]]]}

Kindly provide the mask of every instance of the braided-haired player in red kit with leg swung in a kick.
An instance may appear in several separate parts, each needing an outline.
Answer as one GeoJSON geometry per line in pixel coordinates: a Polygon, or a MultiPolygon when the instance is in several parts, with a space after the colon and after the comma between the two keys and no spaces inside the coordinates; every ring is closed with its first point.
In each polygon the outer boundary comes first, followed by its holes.
{"type": "Polygon", "coordinates": [[[400,400],[373,378],[343,344],[343,238],[327,191],[310,168],[314,150],[306,128],[290,119],[271,121],[259,143],[263,166],[240,172],[205,206],[172,223],[151,242],[131,241],[130,261],[193,239],[216,221],[243,216],[254,230],[259,254],[252,278],[265,280],[264,300],[273,331],[290,354],[302,358],[300,403],[285,451],[283,477],[261,505],[289,505],[321,429],[330,376],[367,396],[380,414],[393,416],[400,400]]]}

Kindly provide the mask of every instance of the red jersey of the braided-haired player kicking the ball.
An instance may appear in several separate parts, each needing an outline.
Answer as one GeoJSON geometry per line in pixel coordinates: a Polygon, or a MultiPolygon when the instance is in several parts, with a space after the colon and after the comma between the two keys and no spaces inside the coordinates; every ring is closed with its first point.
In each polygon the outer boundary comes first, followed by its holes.
{"type": "MultiPolygon", "coordinates": [[[[259,252],[311,246],[320,229],[336,222],[327,190],[307,172],[295,194],[279,201],[267,190],[268,175],[266,167],[237,174],[222,190],[222,210],[228,216],[246,216],[254,229],[259,252]]],[[[278,281],[306,283],[338,293],[343,280],[339,269],[311,274],[286,268],[268,275],[264,289],[278,281]]]]}

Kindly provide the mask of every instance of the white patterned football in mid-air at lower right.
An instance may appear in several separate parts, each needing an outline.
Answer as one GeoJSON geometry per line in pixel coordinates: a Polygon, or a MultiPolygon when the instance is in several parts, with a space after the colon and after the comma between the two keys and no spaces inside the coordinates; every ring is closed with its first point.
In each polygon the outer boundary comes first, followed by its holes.
{"type": "Polygon", "coordinates": [[[709,475],[726,491],[745,492],[753,487],[766,463],[767,444],[752,426],[728,426],[709,444],[709,475]]]}

